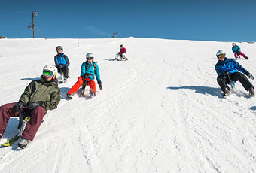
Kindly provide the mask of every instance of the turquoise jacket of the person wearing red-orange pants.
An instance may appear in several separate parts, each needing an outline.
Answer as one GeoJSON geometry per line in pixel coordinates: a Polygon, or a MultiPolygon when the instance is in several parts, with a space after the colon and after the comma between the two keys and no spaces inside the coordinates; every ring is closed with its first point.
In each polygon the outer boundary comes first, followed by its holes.
{"type": "Polygon", "coordinates": [[[83,62],[81,66],[81,76],[84,76],[84,74],[90,74],[89,79],[94,80],[94,75],[96,76],[96,80],[100,81],[99,76],[99,66],[97,65],[97,62],[90,63],[88,61],[83,62]]]}

